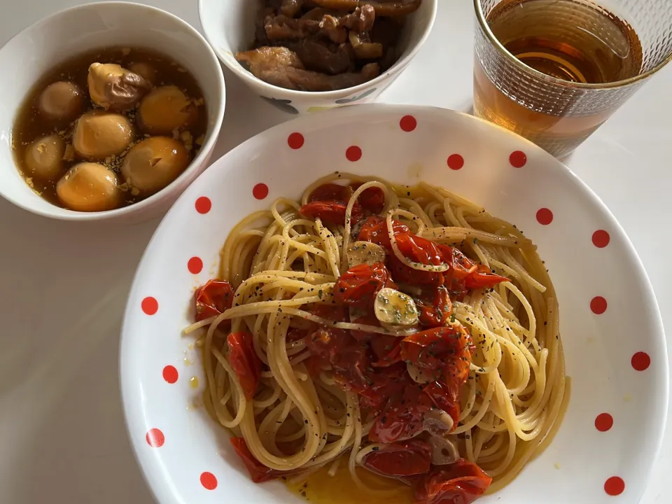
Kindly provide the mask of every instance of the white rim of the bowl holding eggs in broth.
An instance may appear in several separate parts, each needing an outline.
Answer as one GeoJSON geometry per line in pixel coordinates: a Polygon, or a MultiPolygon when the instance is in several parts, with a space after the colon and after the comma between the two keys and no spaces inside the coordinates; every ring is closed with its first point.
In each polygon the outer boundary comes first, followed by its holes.
{"type": "MultiPolygon", "coordinates": [[[[154,6],[149,6],[144,3],[134,3],[130,1],[102,1],[102,2],[84,3],[78,6],[64,8],[62,10],[58,10],[57,12],[46,16],[45,18],[42,18],[41,20],[34,22],[33,24],[19,31],[17,34],[13,35],[8,41],[6,41],[6,43],[0,45],[0,52],[6,50],[7,46],[10,45],[10,43],[15,42],[15,40],[17,40],[18,38],[22,36],[27,36],[27,34],[29,34],[31,31],[39,30],[43,28],[44,25],[47,25],[50,22],[54,22],[55,20],[58,20],[59,18],[62,18],[64,16],[71,15],[71,13],[73,12],[80,10],[96,11],[99,8],[109,8],[109,7],[127,8],[136,11],[144,10],[145,12],[153,13],[154,15],[162,15],[165,18],[176,23],[176,25],[180,25],[181,27],[183,27],[185,31],[194,36],[195,39],[202,45],[202,50],[204,51],[204,55],[207,55],[209,59],[209,64],[212,66],[212,68],[218,69],[218,71],[215,72],[217,76],[216,87],[218,88],[218,92],[221,97],[220,104],[216,109],[214,122],[209,121],[208,128],[209,133],[211,133],[210,138],[202,145],[200,152],[190,162],[190,164],[188,165],[188,167],[186,167],[184,172],[182,172],[174,181],[169,183],[168,186],[158,191],[158,193],[154,193],[153,195],[145,198],[144,200],[141,200],[134,204],[130,204],[127,207],[121,207],[113,210],[104,210],[99,212],[80,212],[70,209],[64,209],[62,207],[58,207],[57,205],[50,204],[50,207],[55,207],[63,211],[63,213],[60,212],[56,213],[55,211],[38,209],[30,203],[22,202],[18,198],[15,198],[11,193],[7,193],[4,190],[3,186],[0,185],[0,196],[3,197],[3,199],[7,200],[11,204],[14,204],[16,207],[31,212],[32,214],[36,214],[47,218],[55,218],[59,221],[106,221],[109,219],[119,218],[121,216],[130,216],[137,212],[141,212],[144,209],[148,209],[149,207],[153,207],[155,204],[159,203],[164,197],[166,197],[167,190],[169,190],[169,188],[179,185],[180,183],[182,183],[184,179],[188,179],[188,177],[191,174],[193,174],[198,169],[198,167],[202,166],[204,162],[207,161],[207,158],[213,151],[214,146],[218,141],[219,133],[221,131],[222,123],[224,120],[224,112],[226,108],[226,85],[224,80],[224,74],[221,71],[221,65],[219,64],[217,55],[215,54],[214,50],[212,49],[211,45],[206,40],[206,38],[204,38],[204,36],[202,36],[202,34],[200,34],[200,32],[197,29],[195,29],[192,25],[190,25],[188,22],[186,22],[182,18],[179,18],[179,16],[169,13],[167,10],[163,10],[161,8],[154,6]]],[[[166,55],[169,55],[168,51],[164,52],[166,55]]],[[[16,167],[14,168],[16,169],[16,167]]]]}

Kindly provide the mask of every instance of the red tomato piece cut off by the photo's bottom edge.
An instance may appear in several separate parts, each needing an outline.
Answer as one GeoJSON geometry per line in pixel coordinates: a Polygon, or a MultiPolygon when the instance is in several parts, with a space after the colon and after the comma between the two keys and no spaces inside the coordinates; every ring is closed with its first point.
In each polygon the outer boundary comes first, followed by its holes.
{"type": "Polygon", "coordinates": [[[488,489],[492,478],[475,463],[460,458],[434,468],[415,489],[414,504],[470,504],[488,489]]]}

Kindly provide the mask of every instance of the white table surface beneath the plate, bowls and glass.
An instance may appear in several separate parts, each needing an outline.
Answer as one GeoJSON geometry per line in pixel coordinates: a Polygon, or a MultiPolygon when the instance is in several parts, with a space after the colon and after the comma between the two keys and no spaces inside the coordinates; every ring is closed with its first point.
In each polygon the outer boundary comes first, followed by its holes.
{"type": "MultiPolygon", "coordinates": [[[[0,0],[0,43],[77,3],[84,2],[0,0]]],[[[147,3],[200,29],[197,0],[147,3]]],[[[472,26],[470,0],[440,0],[426,45],[381,101],[469,111],[472,26]]],[[[225,77],[227,111],[213,159],[289,118],[225,77]]],[[[568,161],[633,241],[668,335],[671,89],[672,65],[568,161]]],[[[156,225],[51,221],[0,199],[0,503],[153,502],[126,435],[118,342],[132,276],[156,225]]],[[[672,502],[671,470],[668,430],[643,504],[672,502]]]]}

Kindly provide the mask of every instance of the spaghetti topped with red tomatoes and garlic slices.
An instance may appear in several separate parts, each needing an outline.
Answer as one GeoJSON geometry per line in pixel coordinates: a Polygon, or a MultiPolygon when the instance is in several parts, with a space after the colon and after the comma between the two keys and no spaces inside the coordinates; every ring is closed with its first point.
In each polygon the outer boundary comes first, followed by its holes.
{"type": "Polygon", "coordinates": [[[414,485],[417,503],[470,478],[470,502],[561,419],[545,266],[515,226],[447,190],[332,174],[244,218],[220,278],[186,332],[207,328],[207,406],[257,482],[345,456],[358,484],[362,466],[414,485]]]}

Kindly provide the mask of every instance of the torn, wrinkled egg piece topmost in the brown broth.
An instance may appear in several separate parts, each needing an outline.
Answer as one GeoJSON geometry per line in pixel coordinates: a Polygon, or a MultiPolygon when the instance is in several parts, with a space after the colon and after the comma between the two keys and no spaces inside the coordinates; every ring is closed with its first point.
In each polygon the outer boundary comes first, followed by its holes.
{"type": "Polygon", "coordinates": [[[114,63],[92,63],[87,77],[93,102],[106,110],[132,109],[151,90],[147,80],[114,63]]]}

